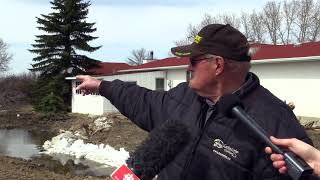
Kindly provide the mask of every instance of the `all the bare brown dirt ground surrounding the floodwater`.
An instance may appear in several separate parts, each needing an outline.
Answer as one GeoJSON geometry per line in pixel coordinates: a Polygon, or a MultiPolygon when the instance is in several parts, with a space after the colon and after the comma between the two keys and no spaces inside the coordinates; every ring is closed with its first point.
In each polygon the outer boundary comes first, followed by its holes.
{"type": "MultiPolygon", "coordinates": [[[[24,128],[31,131],[47,132],[48,137],[55,136],[61,129],[81,131],[88,137],[88,142],[104,143],[119,149],[125,147],[133,151],[139,145],[147,133],[131,123],[120,114],[106,116],[112,121],[110,129],[95,129],[92,124],[94,118],[80,114],[67,116],[44,116],[30,110],[0,111],[0,129],[24,128]]],[[[320,148],[320,131],[308,130],[315,146],[320,148]]],[[[49,165],[41,160],[23,160],[0,156],[0,179],[111,179],[110,177],[75,176],[69,173],[53,172],[49,165]]]]}

